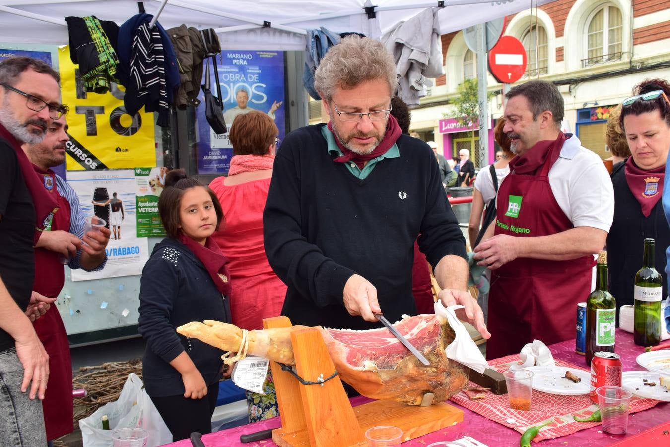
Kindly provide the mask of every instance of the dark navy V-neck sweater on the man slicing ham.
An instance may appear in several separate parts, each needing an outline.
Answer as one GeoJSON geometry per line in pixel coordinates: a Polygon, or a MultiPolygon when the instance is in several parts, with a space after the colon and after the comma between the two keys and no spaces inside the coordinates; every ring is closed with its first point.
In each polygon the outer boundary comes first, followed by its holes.
{"type": "Polygon", "coordinates": [[[293,324],[378,327],[344,308],[344,284],[354,273],[375,285],[391,322],[416,314],[412,265],[419,233],[433,267],[446,255],[465,256],[433,151],[401,135],[400,156],[383,159],[358,180],[332,161],[320,126],[284,139],[263,212],[267,259],[288,285],[282,314],[293,324]]]}

